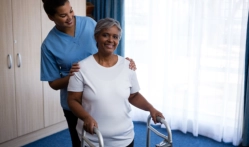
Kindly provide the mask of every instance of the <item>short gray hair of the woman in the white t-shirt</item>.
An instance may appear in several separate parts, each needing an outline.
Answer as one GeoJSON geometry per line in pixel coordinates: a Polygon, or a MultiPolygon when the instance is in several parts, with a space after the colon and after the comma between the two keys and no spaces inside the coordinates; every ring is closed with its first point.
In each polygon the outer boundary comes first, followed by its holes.
{"type": "Polygon", "coordinates": [[[120,26],[120,23],[113,19],[113,18],[104,18],[104,19],[100,19],[97,22],[97,25],[95,26],[95,30],[94,30],[94,36],[96,37],[103,29],[109,29],[113,26],[116,26],[119,30],[119,40],[121,39],[122,36],[122,28],[120,26]]]}

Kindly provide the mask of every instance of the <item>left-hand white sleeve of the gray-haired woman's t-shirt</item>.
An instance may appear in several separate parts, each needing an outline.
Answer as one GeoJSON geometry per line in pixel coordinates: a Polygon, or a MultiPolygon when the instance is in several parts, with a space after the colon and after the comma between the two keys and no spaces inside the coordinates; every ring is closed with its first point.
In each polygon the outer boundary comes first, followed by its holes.
{"type": "Polygon", "coordinates": [[[75,72],[69,78],[67,91],[82,92],[84,90],[84,80],[80,72],[75,72]]]}

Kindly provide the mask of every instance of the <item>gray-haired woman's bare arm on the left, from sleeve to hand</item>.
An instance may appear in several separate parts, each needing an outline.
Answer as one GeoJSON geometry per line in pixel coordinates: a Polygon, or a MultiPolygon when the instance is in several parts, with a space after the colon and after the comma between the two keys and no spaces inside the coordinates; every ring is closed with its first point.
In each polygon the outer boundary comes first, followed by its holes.
{"type": "Polygon", "coordinates": [[[75,116],[84,121],[84,130],[93,134],[93,127],[98,127],[97,122],[89,115],[81,105],[83,92],[68,91],[68,106],[75,116]]]}

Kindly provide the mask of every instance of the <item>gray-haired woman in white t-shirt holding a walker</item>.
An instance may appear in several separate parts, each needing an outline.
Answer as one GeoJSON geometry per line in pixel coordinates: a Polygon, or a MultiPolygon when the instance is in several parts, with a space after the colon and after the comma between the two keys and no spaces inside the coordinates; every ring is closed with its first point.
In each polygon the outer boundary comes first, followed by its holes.
{"type": "Polygon", "coordinates": [[[93,127],[97,127],[105,147],[133,147],[130,104],[149,111],[155,123],[156,116],[163,117],[139,93],[136,73],[129,69],[129,61],[114,54],[121,33],[118,21],[99,20],[94,31],[98,52],[79,62],[80,70],[70,77],[68,84],[68,105],[79,118],[79,135],[84,127],[87,138],[98,145],[93,134],[93,127]]]}

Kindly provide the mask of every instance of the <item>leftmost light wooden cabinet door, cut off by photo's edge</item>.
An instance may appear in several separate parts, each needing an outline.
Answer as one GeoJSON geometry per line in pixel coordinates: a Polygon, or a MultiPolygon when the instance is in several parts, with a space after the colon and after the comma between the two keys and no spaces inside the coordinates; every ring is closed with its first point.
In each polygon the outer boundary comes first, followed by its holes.
{"type": "Polygon", "coordinates": [[[4,142],[17,136],[10,0],[1,0],[0,26],[0,142],[4,142]]]}

